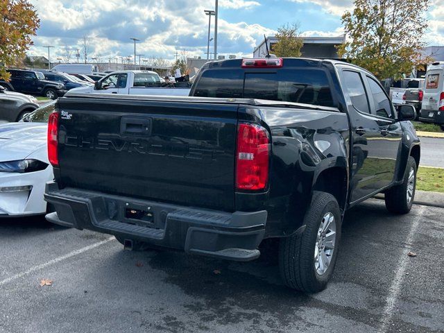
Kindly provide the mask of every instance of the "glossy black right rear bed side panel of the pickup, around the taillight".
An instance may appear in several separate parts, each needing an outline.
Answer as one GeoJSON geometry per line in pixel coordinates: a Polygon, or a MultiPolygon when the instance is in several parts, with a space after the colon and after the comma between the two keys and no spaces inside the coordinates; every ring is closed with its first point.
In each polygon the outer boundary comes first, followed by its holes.
{"type": "Polygon", "coordinates": [[[322,171],[340,167],[348,172],[347,114],[241,107],[242,120],[260,123],[270,131],[271,171],[267,194],[237,193],[236,208],[267,210],[267,237],[291,234],[302,225],[312,188],[322,171]]]}

